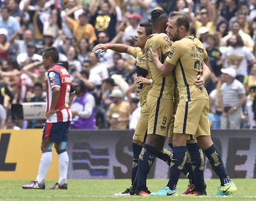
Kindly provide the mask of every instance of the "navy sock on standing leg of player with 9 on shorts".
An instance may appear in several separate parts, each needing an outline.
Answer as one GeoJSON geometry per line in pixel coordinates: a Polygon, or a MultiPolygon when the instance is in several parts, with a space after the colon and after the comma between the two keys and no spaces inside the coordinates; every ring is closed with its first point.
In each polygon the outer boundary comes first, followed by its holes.
{"type": "Polygon", "coordinates": [[[147,175],[155,160],[156,149],[148,144],[144,144],[139,157],[137,190],[144,191],[147,187],[147,175]]]}

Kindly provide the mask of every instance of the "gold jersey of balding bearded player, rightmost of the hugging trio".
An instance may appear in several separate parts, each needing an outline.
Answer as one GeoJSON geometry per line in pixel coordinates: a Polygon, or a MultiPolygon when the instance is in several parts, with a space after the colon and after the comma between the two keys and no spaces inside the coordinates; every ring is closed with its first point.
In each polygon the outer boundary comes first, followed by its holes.
{"type": "Polygon", "coordinates": [[[173,43],[166,61],[176,65],[175,77],[180,102],[208,99],[207,89],[195,86],[195,77],[202,73],[203,62],[207,60],[205,47],[194,36],[173,43]]]}

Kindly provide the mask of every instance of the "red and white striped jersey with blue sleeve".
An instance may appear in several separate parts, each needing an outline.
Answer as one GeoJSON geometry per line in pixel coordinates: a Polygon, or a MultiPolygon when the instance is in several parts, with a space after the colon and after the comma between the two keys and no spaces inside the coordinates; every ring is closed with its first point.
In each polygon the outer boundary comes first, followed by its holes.
{"type": "Polygon", "coordinates": [[[74,89],[72,89],[70,75],[66,68],[59,64],[54,64],[48,69],[46,81],[46,113],[48,113],[51,107],[51,100],[53,98],[52,89],[56,87],[61,88],[59,100],[54,108],[54,110],[58,110],[58,112],[51,115],[50,120],[47,119],[46,122],[56,123],[71,121],[72,113],[69,109],[69,96],[70,93],[74,92],[74,89]]]}

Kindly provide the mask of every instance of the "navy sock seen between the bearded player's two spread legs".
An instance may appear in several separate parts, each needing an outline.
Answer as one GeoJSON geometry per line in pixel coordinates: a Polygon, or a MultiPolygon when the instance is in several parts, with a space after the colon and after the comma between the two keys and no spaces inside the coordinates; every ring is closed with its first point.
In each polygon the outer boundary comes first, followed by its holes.
{"type": "Polygon", "coordinates": [[[187,144],[187,150],[191,158],[191,173],[194,173],[194,184],[197,188],[197,191],[205,191],[205,179],[203,177],[204,169],[204,158],[202,149],[198,146],[197,143],[187,144]],[[193,170],[193,171],[192,171],[193,170]]]}

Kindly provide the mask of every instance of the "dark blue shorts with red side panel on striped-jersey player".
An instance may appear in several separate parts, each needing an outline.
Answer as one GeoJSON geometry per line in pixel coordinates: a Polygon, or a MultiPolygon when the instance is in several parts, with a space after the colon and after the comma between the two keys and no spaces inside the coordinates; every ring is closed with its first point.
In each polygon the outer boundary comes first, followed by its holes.
{"type": "Polygon", "coordinates": [[[43,127],[43,139],[49,137],[51,142],[67,142],[70,121],[58,123],[45,123],[43,127]]]}

